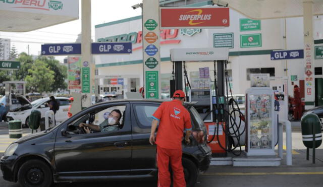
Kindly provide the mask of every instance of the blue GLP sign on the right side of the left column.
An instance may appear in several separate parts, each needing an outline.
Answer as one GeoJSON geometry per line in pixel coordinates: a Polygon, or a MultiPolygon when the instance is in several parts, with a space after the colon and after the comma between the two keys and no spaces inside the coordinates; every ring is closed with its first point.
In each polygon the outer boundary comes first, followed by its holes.
{"type": "Polygon", "coordinates": [[[92,54],[130,54],[132,53],[131,42],[97,42],[91,44],[92,54]]]}

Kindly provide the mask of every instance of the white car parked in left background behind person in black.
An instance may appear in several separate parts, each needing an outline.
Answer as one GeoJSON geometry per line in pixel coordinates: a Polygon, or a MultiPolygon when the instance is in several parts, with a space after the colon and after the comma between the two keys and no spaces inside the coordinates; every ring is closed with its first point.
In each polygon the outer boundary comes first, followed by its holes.
{"type": "MultiPolygon", "coordinates": [[[[55,97],[56,100],[60,104],[60,109],[55,114],[56,122],[62,122],[68,119],[67,112],[69,110],[69,98],[67,97],[55,97]]],[[[32,110],[36,109],[41,112],[41,118],[45,117],[45,112],[49,110],[49,106],[47,102],[49,101],[49,97],[37,99],[29,104],[32,108],[29,109],[15,109],[14,111],[10,111],[7,114],[8,120],[21,120],[22,124],[28,127],[29,116],[32,110]]]]}

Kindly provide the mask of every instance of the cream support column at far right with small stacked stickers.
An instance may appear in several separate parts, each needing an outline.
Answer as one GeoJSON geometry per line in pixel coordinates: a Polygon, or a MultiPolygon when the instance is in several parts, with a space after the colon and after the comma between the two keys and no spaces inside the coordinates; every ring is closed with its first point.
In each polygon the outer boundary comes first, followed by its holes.
{"type": "Polygon", "coordinates": [[[305,109],[314,107],[314,38],[313,38],[313,1],[303,2],[304,24],[304,64],[305,64],[305,109]]]}

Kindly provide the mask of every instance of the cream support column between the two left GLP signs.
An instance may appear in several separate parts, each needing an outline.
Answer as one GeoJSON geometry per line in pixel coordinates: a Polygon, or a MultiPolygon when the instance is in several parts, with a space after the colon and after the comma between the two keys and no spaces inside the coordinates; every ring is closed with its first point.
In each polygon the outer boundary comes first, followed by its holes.
{"type": "Polygon", "coordinates": [[[82,0],[82,107],[91,105],[91,95],[94,93],[95,65],[91,54],[91,0],[82,0]],[[86,96],[85,96],[86,95],[86,96]]]}

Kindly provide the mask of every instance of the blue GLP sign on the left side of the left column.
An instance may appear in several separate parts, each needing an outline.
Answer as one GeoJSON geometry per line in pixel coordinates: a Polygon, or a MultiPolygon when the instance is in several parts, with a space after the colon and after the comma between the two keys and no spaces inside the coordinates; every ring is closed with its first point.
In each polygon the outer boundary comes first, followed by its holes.
{"type": "Polygon", "coordinates": [[[41,45],[42,55],[81,54],[80,43],[51,43],[41,45]]]}

